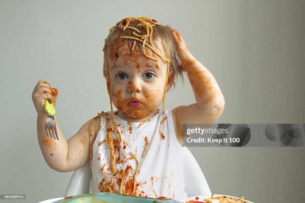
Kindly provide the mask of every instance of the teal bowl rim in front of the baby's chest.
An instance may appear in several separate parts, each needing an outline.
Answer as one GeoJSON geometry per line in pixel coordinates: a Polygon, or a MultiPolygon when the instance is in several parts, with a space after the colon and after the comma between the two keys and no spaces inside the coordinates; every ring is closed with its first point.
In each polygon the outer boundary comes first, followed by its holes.
{"type": "Polygon", "coordinates": [[[55,201],[56,203],[180,203],[179,201],[172,199],[154,199],[154,198],[144,198],[138,196],[130,196],[118,193],[110,193],[110,192],[99,192],[99,193],[91,193],[91,194],[81,194],[73,197],[66,197],[64,199],[55,201]]]}

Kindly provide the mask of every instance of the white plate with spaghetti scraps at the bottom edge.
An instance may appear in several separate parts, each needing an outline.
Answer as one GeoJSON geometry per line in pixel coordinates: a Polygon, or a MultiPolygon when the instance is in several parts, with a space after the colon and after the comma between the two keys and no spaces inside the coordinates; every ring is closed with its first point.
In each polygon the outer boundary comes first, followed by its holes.
{"type": "Polygon", "coordinates": [[[233,197],[223,194],[205,194],[194,197],[189,197],[183,203],[191,202],[201,202],[201,203],[254,203],[244,199],[244,196],[241,198],[233,197]]]}

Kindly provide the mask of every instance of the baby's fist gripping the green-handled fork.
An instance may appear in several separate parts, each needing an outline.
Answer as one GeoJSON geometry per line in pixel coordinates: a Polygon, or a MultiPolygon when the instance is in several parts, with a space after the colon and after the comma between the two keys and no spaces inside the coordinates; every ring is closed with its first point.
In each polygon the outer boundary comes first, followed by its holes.
{"type": "Polygon", "coordinates": [[[55,106],[57,94],[58,89],[51,88],[48,82],[39,80],[32,93],[32,100],[37,113],[45,112],[45,100],[50,100],[55,106]]]}

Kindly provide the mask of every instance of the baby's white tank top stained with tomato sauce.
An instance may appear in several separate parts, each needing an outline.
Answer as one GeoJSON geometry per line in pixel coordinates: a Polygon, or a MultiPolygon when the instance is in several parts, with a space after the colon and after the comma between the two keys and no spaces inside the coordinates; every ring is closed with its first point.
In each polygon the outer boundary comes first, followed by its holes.
{"type": "MultiPolygon", "coordinates": [[[[111,115],[111,112],[109,112],[111,115]]],[[[120,192],[122,179],[122,193],[130,195],[134,189],[134,177],[137,170],[137,161],[131,155],[134,153],[139,162],[139,172],[136,177],[136,187],[133,195],[159,198],[166,197],[175,200],[187,198],[184,191],[183,177],[183,147],[179,144],[174,130],[174,123],[170,110],[165,110],[166,120],[159,126],[165,115],[162,110],[143,123],[130,123],[114,115],[118,124],[122,142],[114,129],[114,167],[113,175],[110,165],[110,149],[107,138],[106,118],[101,117],[101,126],[95,142],[92,146],[92,178],[90,181],[90,193],[102,192],[109,186],[113,192],[120,192]],[[145,157],[142,157],[146,140],[148,147],[145,157]]],[[[112,119],[110,125],[112,126],[112,119]]],[[[109,191],[106,189],[106,191],[109,191]]]]}

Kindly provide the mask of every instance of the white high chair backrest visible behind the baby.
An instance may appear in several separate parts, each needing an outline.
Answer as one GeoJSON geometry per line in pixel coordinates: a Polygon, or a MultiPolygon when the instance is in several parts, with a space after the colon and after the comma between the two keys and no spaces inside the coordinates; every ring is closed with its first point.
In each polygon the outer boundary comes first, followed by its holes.
{"type": "MultiPolygon", "coordinates": [[[[89,193],[92,173],[88,165],[89,163],[86,163],[73,172],[66,189],[65,197],[89,193]]],[[[206,178],[196,159],[186,147],[184,147],[183,153],[183,176],[185,181],[185,192],[188,197],[211,194],[210,187],[207,184],[206,178]]]]}

